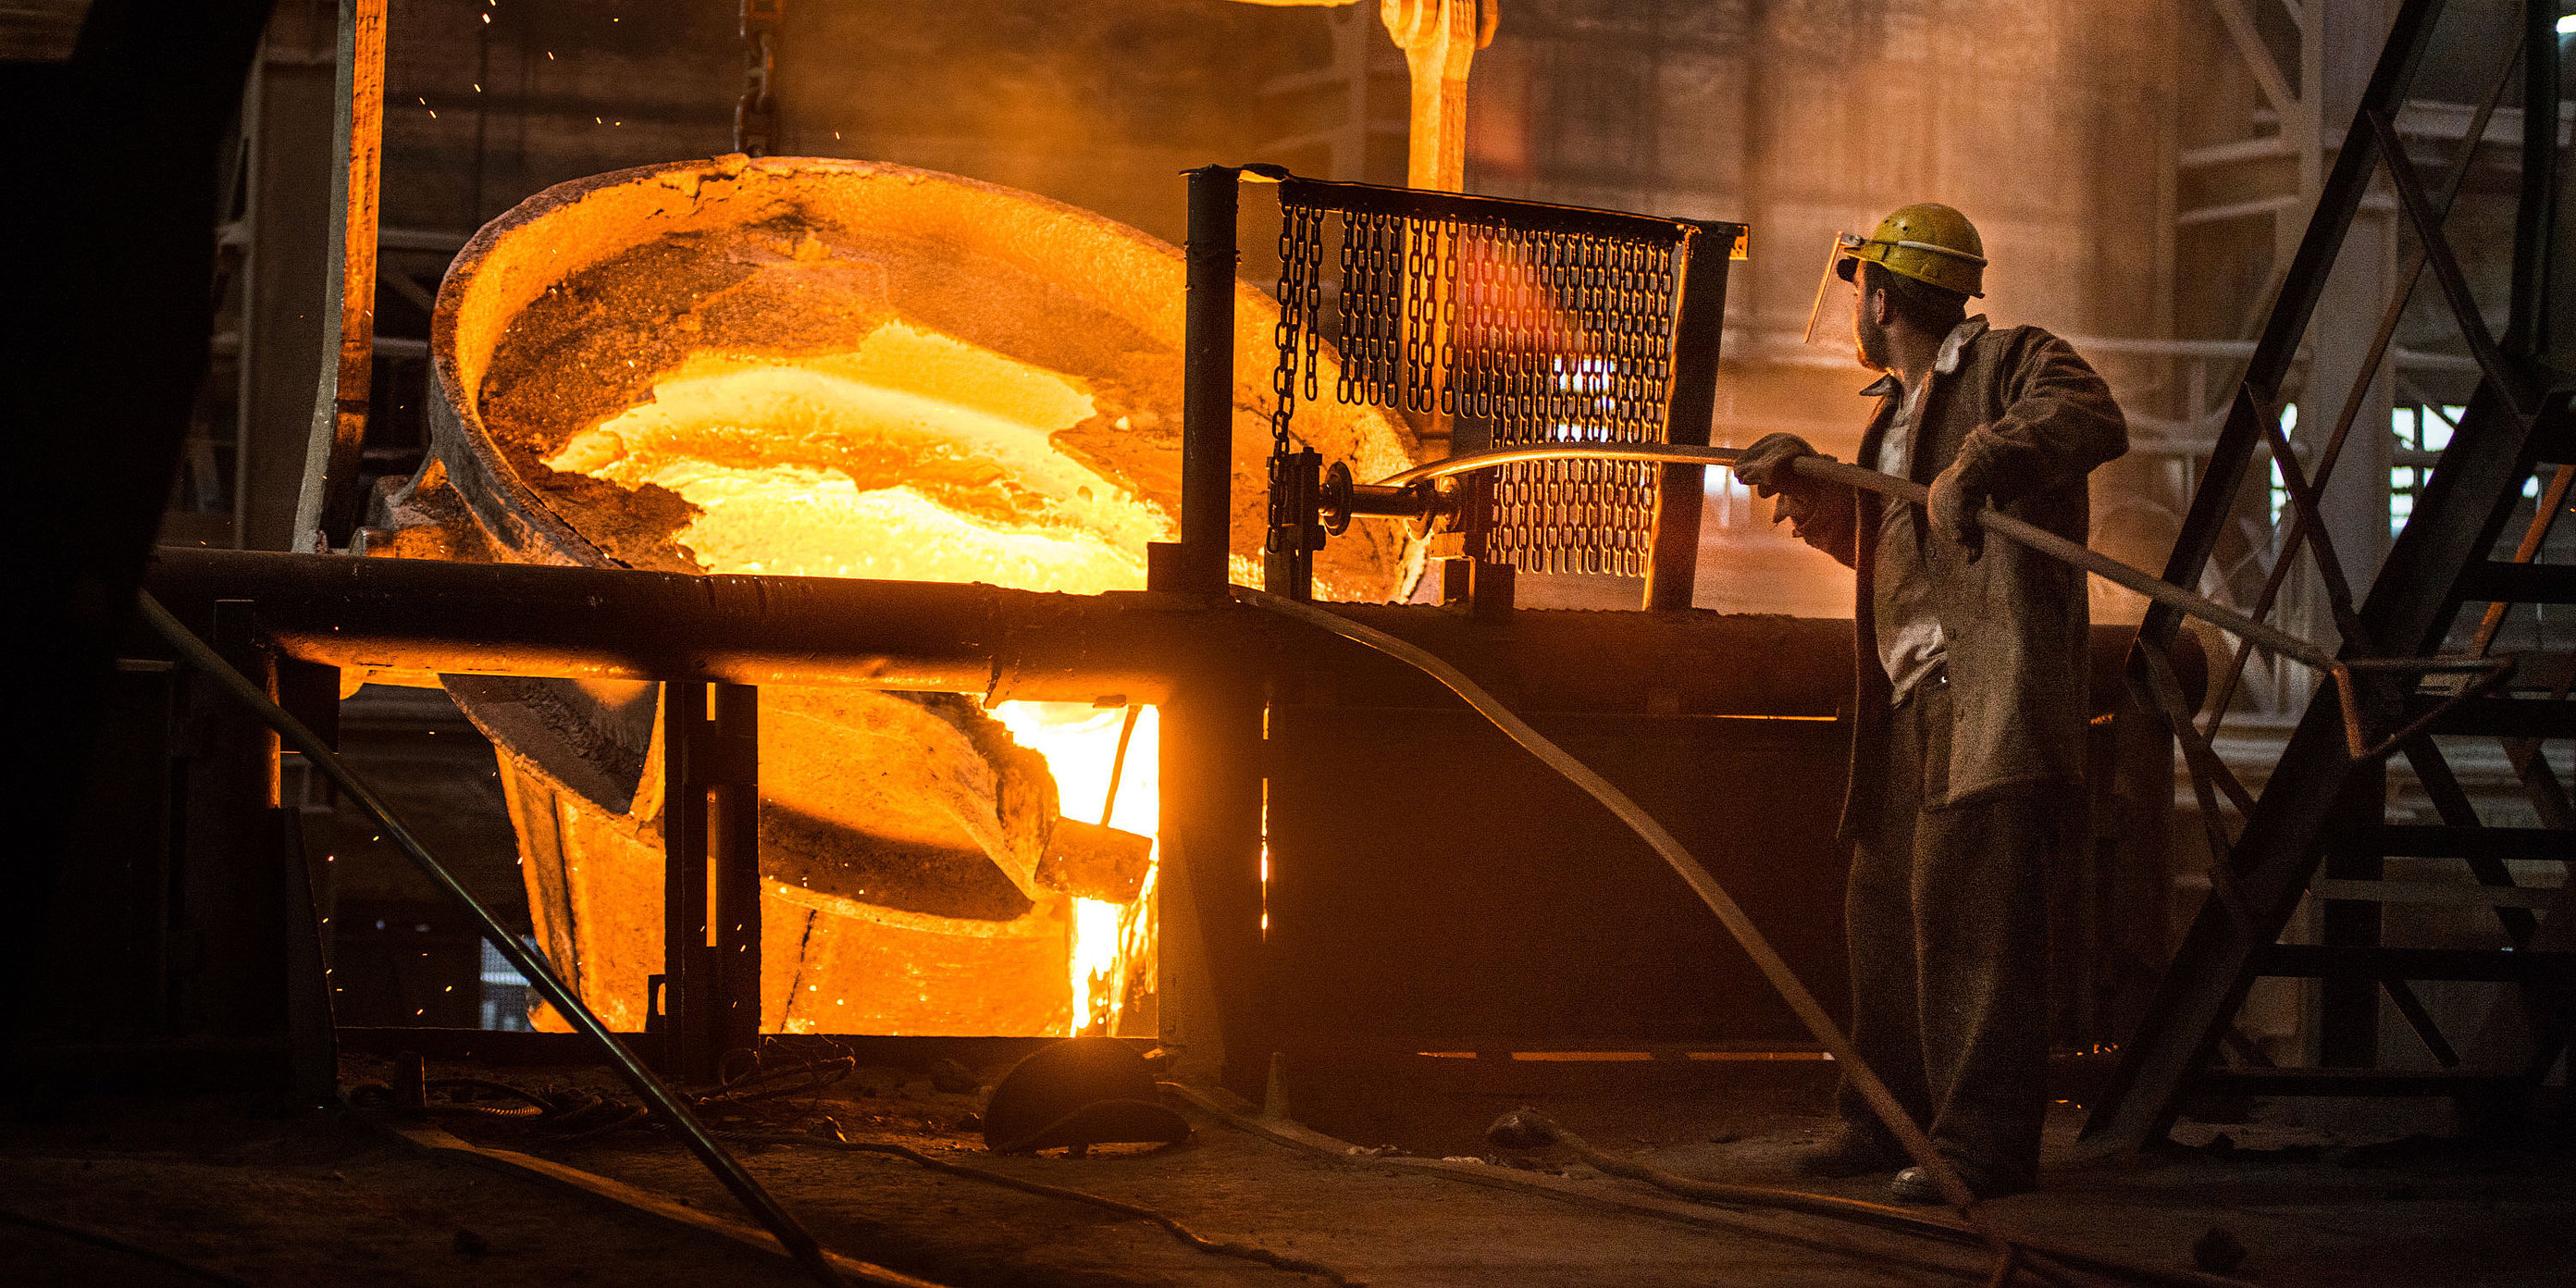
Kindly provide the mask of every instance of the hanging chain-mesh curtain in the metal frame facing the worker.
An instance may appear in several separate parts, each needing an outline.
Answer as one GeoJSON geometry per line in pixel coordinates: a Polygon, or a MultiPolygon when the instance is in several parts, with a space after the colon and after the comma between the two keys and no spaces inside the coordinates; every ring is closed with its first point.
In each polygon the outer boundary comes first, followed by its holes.
{"type": "MultiPolygon", "coordinates": [[[[1288,180],[1270,376],[1275,461],[1293,453],[1298,392],[1319,397],[1327,219],[1340,234],[1334,399],[1445,415],[1497,448],[1669,440],[1692,224],[1492,198],[1461,209],[1458,198],[1288,180]]],[[[1734,245],[1703,250],[1728,255],[1734,245]]],[[[1273,474],[1283,469],[1273,464],[1273,474]]],[[[1486,559],[1522,572],[1638,577],[1659,482],[1656,466],[1633,461],[1502,466],[1471,526],[1486,559]]]]}

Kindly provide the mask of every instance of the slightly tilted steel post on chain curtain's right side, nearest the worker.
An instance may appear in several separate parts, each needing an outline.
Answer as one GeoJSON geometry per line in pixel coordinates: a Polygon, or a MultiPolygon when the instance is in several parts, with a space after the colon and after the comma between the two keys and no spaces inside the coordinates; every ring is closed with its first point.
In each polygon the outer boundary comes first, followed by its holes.
{"type": "MultiPolygon", "coordinates": [[[[1703,224],[1690,237],[1682,263],[1682,309],[1672,337],[1672,402],[1664,440],[1708,446],[1708,422],[1718,410],[1718,340],[1726,332],[1726,265],[1734,252],[1734,227],[1703,224]]],[[[1646,549],[1646,608],[1690,608],[1700,580],[1700,507],[1705,466],[1659,466],[1654,500],[1654,544],[1646,549]]]]}

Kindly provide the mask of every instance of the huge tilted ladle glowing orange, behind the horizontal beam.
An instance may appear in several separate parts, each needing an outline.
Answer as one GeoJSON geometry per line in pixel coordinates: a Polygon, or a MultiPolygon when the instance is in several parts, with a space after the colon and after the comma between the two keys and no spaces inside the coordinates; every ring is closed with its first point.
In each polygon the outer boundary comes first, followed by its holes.
{"type": "MultiPolygon", "coordinates": [[[[1275,309],[1252,289],[1236,307],[1249,569],[1275,309]]],[[[1180,252],[1028,193],[786,157],[598,175],[459,255],[433,461],[379,518],[392,554],[1139,590],[1180,513],[1180,252]]],[[[1319,404],[1298,430],[1363,474],[1414,459],[1368,407],[1319,404]]],[[[1404,533],[1355,531],[1316,582],[1394,598],[1417,569],[1404,533]]],[[[641,1028],[652,688],[448,688],[502,747],[549,956],[641,1028]]],[[[1059,760],[1115,739],[1115,711],[997,721],[976,698],[762,690],[768,1030],[1064,1033],[1087,1010],[1077,896],[1110,914],[1095,938],[1136,943],[1149,842],[1092,824],[1097,786],[1059,760]]],[[[1115,822],[1151,827],[1151,793],[1131,762],[1115,822]]]]}

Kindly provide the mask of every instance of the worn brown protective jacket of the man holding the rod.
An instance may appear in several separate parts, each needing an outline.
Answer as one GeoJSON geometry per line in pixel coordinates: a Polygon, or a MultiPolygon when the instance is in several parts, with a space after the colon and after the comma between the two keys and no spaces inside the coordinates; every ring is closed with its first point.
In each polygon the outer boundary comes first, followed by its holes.
{"type": "MultiPolygon", "coordinates": [[[[1953,332],[1953,345],[1955,366],[1945,353],[1917,407],[1914,482],[1932,482],[1960,461],[1968,477],[1984,482],[1994,507],[2081,544],[2092,523],[2084,477],[2128,451],[2128,422],[2110,386],[2066,340],[2040,327],[1989,330],[1984,317],[1971,317],[1953,332]]],[[[1899,422],[1901,386],[1880,379],[1862,394],[1880,399],[1860,440],[1860,461],[1870,464],[1899,422]]],[[[1929,518],[1919,510],[1904,526],[1914,556],[1899,551],[1896,567],[1929,580],[1955,711],[1947,765],[1924,765],[1924,806],[2081,781],[2092,629],[2084,572],[1991,536],[1971,559],[1968,549],[1929,536],[1929,518]]],[[[1857,574],[1857,706],[1844,837],[1868,822],[1860,806],[1878,799],[1878,747],[1888,737],[1891,688],[1873,618],[1886,513],[1878,495],[1862,502],[1855,489],[1821,487],[1814,513],[1798,526],[1798,538],[1857,574]]]]}

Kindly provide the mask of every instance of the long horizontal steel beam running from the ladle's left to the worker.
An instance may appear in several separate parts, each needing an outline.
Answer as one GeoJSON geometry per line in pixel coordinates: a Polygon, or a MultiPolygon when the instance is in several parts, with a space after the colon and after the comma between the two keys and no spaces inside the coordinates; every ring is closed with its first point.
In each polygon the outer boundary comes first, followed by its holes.
{"type": "MultiPolygon", "coordinates": [[[[348,670],[1084,703],[1157,703],[1198,677],[1265,675],[1298,685],[1285,701],[1450,701],[1409,667],[1257,608],[1141,590],[206,549],[162,549],[144,585],[183,621],[204,621],[214,600],[252,600],[278,649],[348,670]]],[[[1850,621],[1525,611],[1489,623],[1435,605],[1324,608],[1432,649],[1535,711],[1829,719],[1850,703],[1850,621]]],[[[2125,641],[2128,631],[2097,629],[2094,649],[2110,659],[2097,672],[2117,675],[2125,641]]]]}

